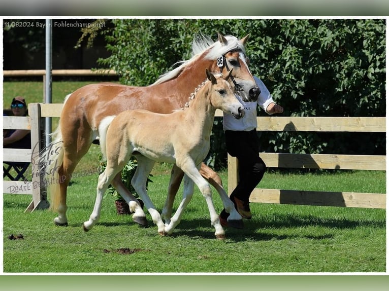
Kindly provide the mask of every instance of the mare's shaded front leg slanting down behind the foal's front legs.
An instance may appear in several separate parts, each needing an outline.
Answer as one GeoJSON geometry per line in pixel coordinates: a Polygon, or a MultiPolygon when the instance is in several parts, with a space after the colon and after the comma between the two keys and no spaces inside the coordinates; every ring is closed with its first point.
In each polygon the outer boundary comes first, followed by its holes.
{"type": "Polygon", "coordinates": [[[168,197],[166,198],[165,205],[161,213],[161,216],[164,219],[166,226],[170,224],[174,198],[177,195],[183,177],[184,177],[184,172],[179,167],[177,167],[176,164],[174,164],[170,175],[168,197]]]}

